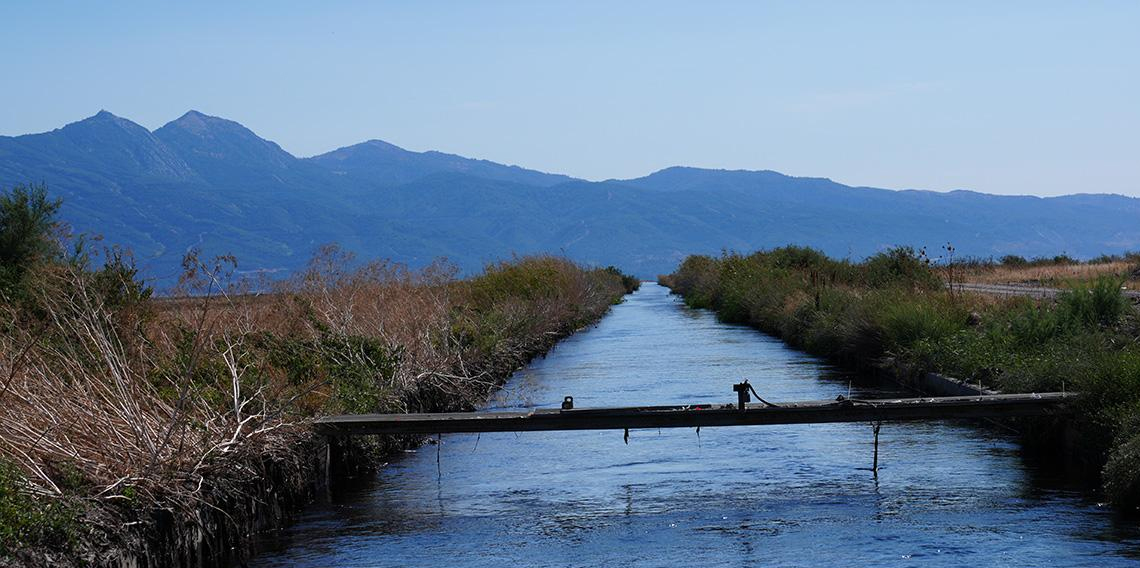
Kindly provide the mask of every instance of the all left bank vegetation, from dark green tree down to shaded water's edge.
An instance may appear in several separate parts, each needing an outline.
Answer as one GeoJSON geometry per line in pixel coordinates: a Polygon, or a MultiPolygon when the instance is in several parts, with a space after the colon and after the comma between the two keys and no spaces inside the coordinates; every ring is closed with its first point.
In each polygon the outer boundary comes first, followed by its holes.
{"type": "MultiPolygon", "coordinates": [[[[0,566],[239,555],[327,482],[315,417],[473,409],[638,285],[549,255],[461,279],[326,246],[256,285],[192,251],[157,298],[129,253],[66,235],[59,206],[0,192],[0,566]]],[[[421,441],[332,449],[359,472],[421,441]]]]}

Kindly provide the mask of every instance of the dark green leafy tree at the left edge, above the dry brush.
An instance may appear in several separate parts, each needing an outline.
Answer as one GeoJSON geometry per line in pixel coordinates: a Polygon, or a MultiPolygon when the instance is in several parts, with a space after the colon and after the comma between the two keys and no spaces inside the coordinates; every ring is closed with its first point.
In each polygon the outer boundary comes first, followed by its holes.
{"type": "Polygon", "coordinates": [[[0,298],[18,295],[28,268],[59,254],[52,238],[62,200],[44,185],[16,185],[0,193],[0,298]]]}

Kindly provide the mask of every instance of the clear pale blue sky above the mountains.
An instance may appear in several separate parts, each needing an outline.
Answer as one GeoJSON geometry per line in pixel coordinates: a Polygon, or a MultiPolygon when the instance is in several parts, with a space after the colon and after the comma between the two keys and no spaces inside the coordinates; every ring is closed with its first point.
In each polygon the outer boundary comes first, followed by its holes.
{"type": "Polygon", "coordinates": [[[0,3],[0,133],[190,108],[587,179],[1140,195],[1140,1],[0,3]]]}

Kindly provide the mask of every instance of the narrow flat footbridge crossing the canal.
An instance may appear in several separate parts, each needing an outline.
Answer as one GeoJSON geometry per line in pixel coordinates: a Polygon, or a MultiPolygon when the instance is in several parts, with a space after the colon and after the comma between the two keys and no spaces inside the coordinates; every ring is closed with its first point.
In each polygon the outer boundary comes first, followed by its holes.
{"type": "Polygon", "coordinates": [[[571,401],[563,409],[327,416],[318,420],[316,427],[328,436],[351,436],[1000,419],[1070,414],[1075,398],[1072,392],[1041,392],[747,404],[748,395],[743,393],[738,404],[573,408],[571,401]]]}

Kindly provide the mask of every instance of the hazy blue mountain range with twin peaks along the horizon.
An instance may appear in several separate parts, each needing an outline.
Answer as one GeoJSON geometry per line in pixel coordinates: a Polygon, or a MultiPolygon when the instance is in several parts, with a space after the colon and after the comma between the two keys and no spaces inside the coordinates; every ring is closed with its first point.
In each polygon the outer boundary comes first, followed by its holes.
{"type": "Polygon", "coordinates": [[[646,277],[690,253],[789,243],[852,258],[946,242],[982,257],[1140,249],[1140,200],[1118,195],[888,190],[694,168],[592,182],[381,140],[298,159],[194,111],[153,132],[104,111],[0,137],[0,187],[41,181],[75,230],[130,248],[160,283],[193,246],[233,253],[243,270],[294,270],[335,242],[412,266],[446,255],[477,270],[553,252],[646,277]]]}

